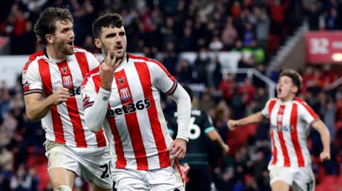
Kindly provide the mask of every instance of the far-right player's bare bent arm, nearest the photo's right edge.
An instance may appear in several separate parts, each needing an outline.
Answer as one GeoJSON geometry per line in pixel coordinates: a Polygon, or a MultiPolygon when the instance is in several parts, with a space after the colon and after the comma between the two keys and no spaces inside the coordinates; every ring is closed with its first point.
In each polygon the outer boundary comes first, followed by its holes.
{"type": "Polygon", "coordinates": [[[323,143],[323,151],[319,155],[319,158],[321,158],[321,161],[330,160],[330,133],[328,127],[326,127],[326,124],[321,119],[314,121],[312,127],[318,131],[323,143]]]}

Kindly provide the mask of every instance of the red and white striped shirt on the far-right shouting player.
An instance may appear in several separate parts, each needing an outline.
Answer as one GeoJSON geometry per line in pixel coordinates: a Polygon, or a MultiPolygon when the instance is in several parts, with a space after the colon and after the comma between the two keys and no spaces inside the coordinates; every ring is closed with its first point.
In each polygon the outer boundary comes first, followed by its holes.
{"type": "Polygon", "coordinates": [[[289,102],[269,99],[261,113],[269,118],[272,159],[269,165],[304,167],[311,164],[306,145],[310,125],[318,115],[306,102],[296,97],[289,102]]]}

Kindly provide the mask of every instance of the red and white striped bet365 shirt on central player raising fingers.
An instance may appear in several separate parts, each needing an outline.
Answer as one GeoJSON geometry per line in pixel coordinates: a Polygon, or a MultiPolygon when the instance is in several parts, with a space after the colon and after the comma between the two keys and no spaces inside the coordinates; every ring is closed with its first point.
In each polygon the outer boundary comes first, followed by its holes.
{"type": "MultiPolygon", "coordinates": [[[[113,165],[137,170],[170,166],[167,146],[172,138],[162,113],[159,90],[172,94],[177,80],[160,62],[129,54],[114,76],[103,121],[113,153],[113,165]]],[[[93,105],[100,83],[98,70],[83,82],[85,109],[93,105]]]]}

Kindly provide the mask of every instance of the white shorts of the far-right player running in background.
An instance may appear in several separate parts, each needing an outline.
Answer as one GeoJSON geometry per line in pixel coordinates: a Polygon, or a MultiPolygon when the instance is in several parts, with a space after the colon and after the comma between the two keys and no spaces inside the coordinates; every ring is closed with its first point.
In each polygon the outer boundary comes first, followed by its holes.
{"type": "Polygon", "coordinates": [[[281,180],[291,185],[294,191],[314,191],[315,176],[310,166],[301,168],[269,166],[270,185],[281,180]]]}

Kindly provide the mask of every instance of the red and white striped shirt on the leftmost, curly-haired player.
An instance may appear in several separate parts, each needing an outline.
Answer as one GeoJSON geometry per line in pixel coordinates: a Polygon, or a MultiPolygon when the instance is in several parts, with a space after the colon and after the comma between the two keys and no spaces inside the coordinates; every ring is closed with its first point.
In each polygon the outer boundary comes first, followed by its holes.
{"type": "Polygon", "coordinates": [[[41,119],[46,140],[78,148],[104,147],[107,141],[103,131],[93,133],[86,127],[80,93],[83,77],[99,62],[86,50],[74,51],[63,60],[48,58],[44,51],[31,55],[23,71],[24,95],[41,93],[48,97],[59,87],[66,87],[68,101],[53,105],[41,119]]]}

